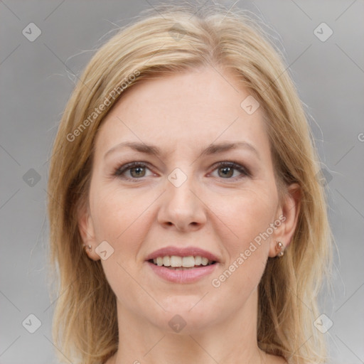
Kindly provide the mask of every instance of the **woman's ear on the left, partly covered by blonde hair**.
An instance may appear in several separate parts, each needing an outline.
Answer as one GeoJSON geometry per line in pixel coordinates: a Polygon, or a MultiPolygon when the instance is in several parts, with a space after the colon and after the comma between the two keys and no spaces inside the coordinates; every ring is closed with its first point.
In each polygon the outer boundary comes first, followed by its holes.
{"type": "Polygon", "coordinates": [[[77,222],[78,230],[82,238],[82,249],[92,260],[100,260],[100,256],[96,254],[95,248],[97,247],[95,239],[95,229],[90,214],[90,208],[86,203],[82,203],[80,208],[77,210],[77,222]],[[85,245],[91,245],[91,250],[89,250],[85,245]]]}

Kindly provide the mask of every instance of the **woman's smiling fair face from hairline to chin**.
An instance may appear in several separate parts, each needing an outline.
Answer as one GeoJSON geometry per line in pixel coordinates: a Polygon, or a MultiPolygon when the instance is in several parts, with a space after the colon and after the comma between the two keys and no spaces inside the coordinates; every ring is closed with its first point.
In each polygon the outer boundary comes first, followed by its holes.
{"type": "Polygon", "coordinates": [[[141,82],[109,112],[80,230],[119,312],[185,333],[255,317],[267,259],[291,239],[286,210],[262,108],[230,73],[200,68],[141,82]]]}

